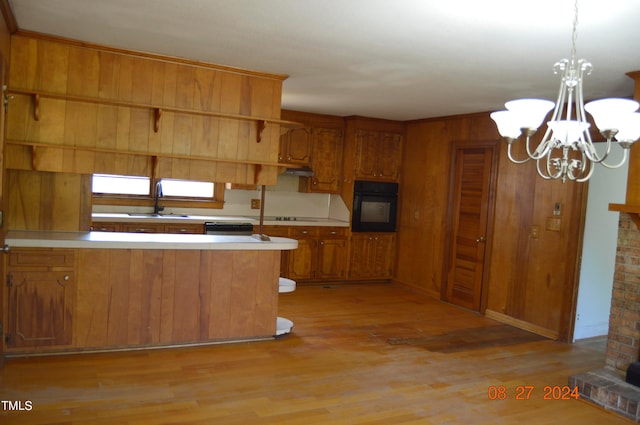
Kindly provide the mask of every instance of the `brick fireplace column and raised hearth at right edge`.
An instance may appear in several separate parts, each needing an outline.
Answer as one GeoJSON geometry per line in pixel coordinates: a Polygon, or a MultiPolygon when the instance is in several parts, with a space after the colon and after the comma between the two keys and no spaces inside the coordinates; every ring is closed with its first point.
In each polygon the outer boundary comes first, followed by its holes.
{"type": "Polygon", "coordinates": [[[620,213],[605,365],[574,375],[581,398],[640,422],[640,387],[625,382],[640,357],[640,230],[633,213],[620,213]]]}

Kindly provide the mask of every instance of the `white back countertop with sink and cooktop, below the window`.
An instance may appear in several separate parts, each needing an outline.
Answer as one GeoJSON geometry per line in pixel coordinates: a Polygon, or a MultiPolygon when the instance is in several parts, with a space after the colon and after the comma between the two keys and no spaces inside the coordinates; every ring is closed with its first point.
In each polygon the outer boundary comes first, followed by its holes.
{"type": "MultiPolygon", "coordinates": [[[[200,224],[206,221],[219,221],[229,223],[260,224],[260,217],[247,216],[204,216],[204,215],[180,215],[161,214],[154,217],[149,214],[124,214],[124,213],[93,213],[91,219],[94,222],[117,221],[122,223],[194,223],[200,224]]],[[[349,227],[349,222],[332,218],[296,217],[295,220],[277,220],[276,217],[265,217],[266,226],[336,226],[349,227]]]]}

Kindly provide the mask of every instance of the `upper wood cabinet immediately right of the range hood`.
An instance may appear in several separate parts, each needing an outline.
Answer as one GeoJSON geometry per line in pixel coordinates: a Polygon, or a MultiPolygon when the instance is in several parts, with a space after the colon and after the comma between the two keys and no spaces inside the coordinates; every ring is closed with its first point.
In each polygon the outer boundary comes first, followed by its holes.
{"type": "Polygon", "coordinates": [[[341,129],[312,129],[311,169],[314,175],[300,179],[301,192],[340,193],[342,145],[341,129]]]}

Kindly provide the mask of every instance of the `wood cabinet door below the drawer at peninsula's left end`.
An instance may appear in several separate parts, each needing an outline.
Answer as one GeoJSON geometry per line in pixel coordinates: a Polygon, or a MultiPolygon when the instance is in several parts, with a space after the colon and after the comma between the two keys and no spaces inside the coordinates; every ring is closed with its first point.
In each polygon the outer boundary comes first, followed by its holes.
{"type": "Polygon", "coordinates": [[[9,273],[7,347],[71,344],[72,271],[9,273]]]}

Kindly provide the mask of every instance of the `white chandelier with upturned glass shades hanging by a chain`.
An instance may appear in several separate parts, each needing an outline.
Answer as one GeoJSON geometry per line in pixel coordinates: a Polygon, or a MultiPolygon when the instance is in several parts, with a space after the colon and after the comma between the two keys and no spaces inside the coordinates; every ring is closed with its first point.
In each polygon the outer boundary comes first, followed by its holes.
{"type": "Polygon", "coordinates": [[[591,73],[592,66],[584,59],[576,60],[576,34],[578,23],[578,1],[575,2],[571,59],[562,59],[553,69],[561,74],[560,91],[554,103],[544,99],[518,99],[505,103],[505,111],[491,114],[498,132],[507,142],[509,159],[522,164],[536,161],[538,174],[544,179],[566,179],[584,182],[589,180],[595,164],[607,168],[618,168],[629,156],[629,149],[640,138],[640,104],[631,99],[602,99],[584,104],[582,83],[584,75],[591,73]],[[542,141],[531,149],[531,138],[553,109],[551,119],[542,141]],[[586,117],[588,112],[605,138],[603,153],[598,153],[586,117]],[[515,159],[512,145],[524,136],[527,157],[515,159]],[[611,147],[617,143],[622,148],[622,159],[617,164],[605,161],[611,147]]]}

